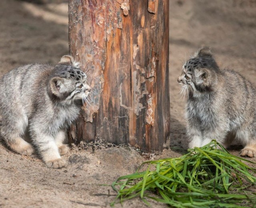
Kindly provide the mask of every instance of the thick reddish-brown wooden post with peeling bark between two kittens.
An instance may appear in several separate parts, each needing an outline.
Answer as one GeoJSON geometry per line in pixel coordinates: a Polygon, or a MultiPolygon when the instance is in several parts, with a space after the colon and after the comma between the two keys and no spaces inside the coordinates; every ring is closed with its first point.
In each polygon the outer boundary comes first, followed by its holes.
{"type": "Polygon", "coordinates": [[[169,0],[69,0],[70,54],[94,88],[69,141],[170,141],[169,0]]]}

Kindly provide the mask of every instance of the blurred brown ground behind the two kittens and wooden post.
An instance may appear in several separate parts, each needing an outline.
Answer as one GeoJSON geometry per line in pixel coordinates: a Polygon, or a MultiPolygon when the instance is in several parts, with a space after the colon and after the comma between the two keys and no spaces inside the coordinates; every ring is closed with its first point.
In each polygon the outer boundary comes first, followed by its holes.
{"type": "MultiPolygon", "coordinates": [[[[170,0],[172,146],[186,148],[182,62],[210,46],[220,67],[256,84],[256,0],[170,0]]],[[[16,66],[58,63],[68,54],[67,0],[1,0],[0,75],[16,66]]],[[[235,95],[234,95],[235,96],[235,95]]]]}

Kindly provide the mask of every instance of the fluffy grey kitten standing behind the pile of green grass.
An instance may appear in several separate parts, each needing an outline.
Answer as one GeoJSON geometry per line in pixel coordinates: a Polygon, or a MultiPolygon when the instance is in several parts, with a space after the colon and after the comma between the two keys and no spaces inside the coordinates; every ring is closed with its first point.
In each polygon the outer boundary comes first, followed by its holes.
{"type": "Polygon", "coordinates": [[[256,157],[256,89],[250,81],[220,69],[205,47],[183,65],[178,82],[188,92],[189,148],[212,139],[227,147],[235,140],[244,145],[242,156],[256,157]]]}

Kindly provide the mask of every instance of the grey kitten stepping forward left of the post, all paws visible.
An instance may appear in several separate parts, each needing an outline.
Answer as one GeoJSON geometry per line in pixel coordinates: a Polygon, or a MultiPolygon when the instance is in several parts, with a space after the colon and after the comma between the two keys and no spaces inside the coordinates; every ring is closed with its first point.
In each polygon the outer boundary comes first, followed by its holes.
{"type": "Polygon", "coordinates": [[[61,168],[66,128],[74,121],[91,87],[74,59],[65,55],[56,66],[24,65],[0,79],[0,133],[16,153],[34,147],[48,167],[61,168]],[[29,131],[33,146],[24,140],[29,131]]]}

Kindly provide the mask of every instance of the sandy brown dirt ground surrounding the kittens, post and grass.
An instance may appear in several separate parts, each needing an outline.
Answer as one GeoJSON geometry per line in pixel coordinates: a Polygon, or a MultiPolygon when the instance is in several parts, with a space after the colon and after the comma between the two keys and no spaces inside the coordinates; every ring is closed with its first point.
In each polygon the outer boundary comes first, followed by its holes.
{"type": "MultiPolygon", "coordinates": [[[[48,1],[52,2],[52,1],[48,1]]],[[[179,99],[182,61],[201,46],[210,46],[221,67],[242,73],[256,85],[256,1],[170,1],[170,103],[172,147],[186,149],[184,102],[179,99]]],[[[56,64],[68,53],[67,3],[44,5],[18,0],[0,3],[0,74],[31,62],[56,64]]],[[[115,192],[110,184],[132,173],[141,162],[176,157],[182,152],[164,150],[142,155],[130,147],[86,144],[64,155],[65,168],[50,169],[38,156],[18,155],[0,143],[1,208],[110,207],[115,192]]],[[[230,152],[239,155],[235,144],[230,152]]],[[[256,162],[256,159],[251,159],[256,162]]],[[[117,204],[116,207],[121,207],[117,204]]],[[[139,199],[125,208],[144,208],[139,199]]],[[[154,208],[166,207],[153,204],[154,208]]]]}

